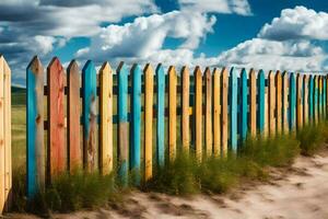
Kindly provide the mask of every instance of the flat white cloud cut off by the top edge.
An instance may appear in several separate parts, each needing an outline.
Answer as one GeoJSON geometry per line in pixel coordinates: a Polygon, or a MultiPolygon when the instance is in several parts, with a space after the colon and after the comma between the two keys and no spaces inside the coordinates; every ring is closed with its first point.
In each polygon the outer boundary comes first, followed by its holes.
{"type": "Polygon", "coordinates": [[[181,10],[250,15],[247,0],[178,0],[181,10]]]}

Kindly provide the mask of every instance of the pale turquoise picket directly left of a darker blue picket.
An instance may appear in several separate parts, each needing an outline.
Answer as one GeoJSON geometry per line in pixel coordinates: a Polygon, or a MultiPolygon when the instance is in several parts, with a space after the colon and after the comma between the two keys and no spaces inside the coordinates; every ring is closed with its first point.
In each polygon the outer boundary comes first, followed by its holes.
{"type": "Polygon", "coordinates": [[[230,141],[234,152],[237,152],[237,95],[238,78],[234,68],[230,71],[230,141]]]}

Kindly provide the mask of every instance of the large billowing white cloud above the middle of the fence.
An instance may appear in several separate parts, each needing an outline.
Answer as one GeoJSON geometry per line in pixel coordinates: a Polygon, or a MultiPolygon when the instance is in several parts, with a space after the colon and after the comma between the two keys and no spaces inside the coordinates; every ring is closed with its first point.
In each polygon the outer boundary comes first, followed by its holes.
{"type": "MultiPolygon", "coordinates": [[[[91,46],[78,51],[78,57],[104,59],[110,57],[151,57],[163,47],[165,38],[181,38],[181,50],[192,50],[212,32],[214,16],[173,11],[141,16],[125,25],[109,25],[91,38],[91,46]]],[[[162,53],[167,53],[162,51],[162,53]]],[[[155,55],[156,56],[156,55],[155,55]]]]}

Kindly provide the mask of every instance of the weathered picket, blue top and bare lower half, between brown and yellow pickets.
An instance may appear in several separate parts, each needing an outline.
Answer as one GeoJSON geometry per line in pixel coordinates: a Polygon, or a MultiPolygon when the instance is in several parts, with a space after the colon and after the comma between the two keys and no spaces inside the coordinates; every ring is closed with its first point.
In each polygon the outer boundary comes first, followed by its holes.
{"type": "MultiPolygon", "coordinates": [[[[82,69],[83,92],[83,166],[87,172],[96,168],[96,69],[89,60],[82,69]]],[[[126,137],[126,136],[125,136],[126,137]]]]}

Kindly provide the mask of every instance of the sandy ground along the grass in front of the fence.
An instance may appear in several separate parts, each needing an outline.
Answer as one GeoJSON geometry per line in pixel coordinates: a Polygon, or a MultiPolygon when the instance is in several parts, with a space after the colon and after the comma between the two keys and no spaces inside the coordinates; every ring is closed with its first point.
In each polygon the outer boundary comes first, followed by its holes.
{"type": "MultiPolygon", "coordinates": [[[[242,218],[328,219],[328,152],[296,159],[289,170],[272,170],[267,184],[247,184],[227,195],[192,198],[132,193],[120,206],[54,218],[242,218]]],[[[34,219],[28,215],[9,218],[34,219]]]]}

